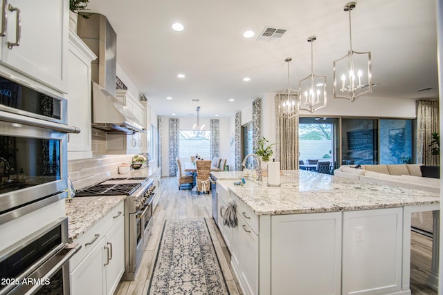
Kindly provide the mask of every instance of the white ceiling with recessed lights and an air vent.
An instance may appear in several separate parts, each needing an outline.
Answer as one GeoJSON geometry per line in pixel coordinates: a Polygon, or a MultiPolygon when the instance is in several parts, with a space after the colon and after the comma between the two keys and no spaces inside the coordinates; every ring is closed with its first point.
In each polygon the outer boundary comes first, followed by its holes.
{"type": "MultiPolygon", "coordinates": [[[[292,57],[291,88],[298,88],[311,71],[311,35],[317,36],[314,73],[327,76],[332,94],[332,61],[349,50],[346,3],[89,0],[88,7],[109,19],[120,68],[158,115],[195,115],[191,99],[200,99],[201,117],[228,117],[263,93],[287,88],[286,57],[292,57]],[[185,26],[182,32],[171,28],[177,21],[185,26]],[[257,41],[265,26],[288,30],[278,41],[257,41]],[[255,37],[245,39],[246,30],[255,37]]],[[[379,84],[358,99],[438,97],[435,0],[359,0],[352,10],[352,46],[372,52],[372,83],[379,84]],[[423,88],[433,90],[417,92],[423,88]]]]}

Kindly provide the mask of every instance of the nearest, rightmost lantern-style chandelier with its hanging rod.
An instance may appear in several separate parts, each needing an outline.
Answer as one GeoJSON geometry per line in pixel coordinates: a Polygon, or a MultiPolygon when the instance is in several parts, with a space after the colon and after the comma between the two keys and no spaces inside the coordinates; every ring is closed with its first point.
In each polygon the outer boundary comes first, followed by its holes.
{"type": "Polygon", "coordinates": [[[351,10],[356,2],[349,2],[344,10],[349,12],[350,50],[347,55],[334,61],[334,98],[347,98],[351,102],[357,97],[372,93],[371,53],[352,50],[351,10]],[[339,80],[338,80],[339,79],[339,80]]]}

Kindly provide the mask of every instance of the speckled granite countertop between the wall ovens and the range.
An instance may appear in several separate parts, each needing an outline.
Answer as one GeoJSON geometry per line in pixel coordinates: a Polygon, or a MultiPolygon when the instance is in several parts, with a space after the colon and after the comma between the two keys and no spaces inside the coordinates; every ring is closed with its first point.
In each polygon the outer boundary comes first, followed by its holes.
{"type": "Polygon", "coordinates": [[[74,197],[66,200],[69,242],[82,236],[125,198],[126,196],[74,197]]]}

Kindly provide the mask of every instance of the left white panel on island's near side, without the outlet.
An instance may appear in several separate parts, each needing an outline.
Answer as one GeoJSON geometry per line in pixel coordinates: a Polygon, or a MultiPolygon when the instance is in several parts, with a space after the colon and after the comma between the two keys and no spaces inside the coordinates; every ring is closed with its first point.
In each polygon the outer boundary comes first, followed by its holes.
{"type": "Polygon", "coordinates": [[[271,294],[340,294],[341,212],[271,216],[271,274],[271,294]]]}

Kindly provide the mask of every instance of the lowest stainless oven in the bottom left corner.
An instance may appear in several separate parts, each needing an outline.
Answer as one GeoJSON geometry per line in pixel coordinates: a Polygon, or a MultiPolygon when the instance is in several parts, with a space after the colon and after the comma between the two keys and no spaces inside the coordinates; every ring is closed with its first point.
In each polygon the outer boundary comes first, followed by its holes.
{"type": "Polygon", "coordinates": [[[69,294],[69,259],[80,245],[67,244],[68,218],[55,220],[0,251],[0,295],[69,294]]]}

